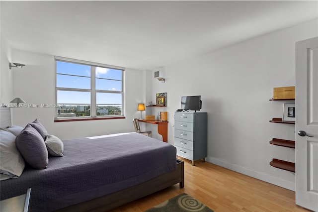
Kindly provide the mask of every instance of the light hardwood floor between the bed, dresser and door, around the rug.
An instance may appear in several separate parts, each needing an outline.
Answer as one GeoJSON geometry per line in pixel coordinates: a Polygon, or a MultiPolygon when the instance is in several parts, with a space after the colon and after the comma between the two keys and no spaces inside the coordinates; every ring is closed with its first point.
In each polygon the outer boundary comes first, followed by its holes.
{"type": "Polygon", "coordinates": [[[112,212],[143,212],[182,193],[215,212],[309,212],[295,204],[295,192],[202,161],[184,161],[184,188],[171,186],[112,212]]]}

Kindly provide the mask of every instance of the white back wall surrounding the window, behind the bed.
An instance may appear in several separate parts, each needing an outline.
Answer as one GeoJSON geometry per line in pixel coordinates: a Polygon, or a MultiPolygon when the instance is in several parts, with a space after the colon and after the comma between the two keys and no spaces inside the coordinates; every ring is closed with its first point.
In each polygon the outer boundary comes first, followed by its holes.
{"type": "MultiPolygon", "coordinates": [[[[12,50],[12,59],[26,64],[23,71],[13,70],[13,96],[20,97],[26,104],[54,104],[56,87],[54,56],[12,50]]],[[[145,99],[143,76],[145,71],[132,69],[125,71],[125,119],[54,122],[53,107],[22,107],[12,108],[12,122],[15,125],[25,126],[38,118],[49,134],[61,139],[134,131],[132,119],[140,115],[137,105],[145,99]]]]}

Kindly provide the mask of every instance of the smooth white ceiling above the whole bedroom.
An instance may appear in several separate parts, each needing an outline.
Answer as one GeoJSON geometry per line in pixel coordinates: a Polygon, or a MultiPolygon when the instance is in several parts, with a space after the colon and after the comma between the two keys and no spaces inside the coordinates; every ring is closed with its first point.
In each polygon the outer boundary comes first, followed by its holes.
{"type": "Polygon", "coordinates": [[[0,33],[12,49],[153,70],[316,17],[317,0],[1,1],[0,33]]]}

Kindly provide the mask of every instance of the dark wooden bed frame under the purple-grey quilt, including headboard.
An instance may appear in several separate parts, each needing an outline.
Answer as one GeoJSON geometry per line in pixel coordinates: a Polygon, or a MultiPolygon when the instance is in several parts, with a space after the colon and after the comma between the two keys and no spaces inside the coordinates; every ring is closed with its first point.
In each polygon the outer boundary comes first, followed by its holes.
{"type": "MultiPolygon", "coordinates": [[[[1,107],[0,109],[0,127],[8,127],[11,125],[11,115],[9,107],[1,107]]],[[[92,212],[92,211],[109,211],[119,206],[125,205],[134,200],[148,196],[162,189],[179,183],[180,188],[184,187],[184,162],[176,158],[177,169],[172,172],[165,173],[153,178],[145,183],[133,186],[131,188],[115,192],[103,197],[99,197],[90,201],[82,202],[73,206],[59,209],[56,212],[92,212]]],[[[32,188],[31,188],[32,189],[32,188]]],[[[32,194],[31,194],[32,195],[32,194]]]]}

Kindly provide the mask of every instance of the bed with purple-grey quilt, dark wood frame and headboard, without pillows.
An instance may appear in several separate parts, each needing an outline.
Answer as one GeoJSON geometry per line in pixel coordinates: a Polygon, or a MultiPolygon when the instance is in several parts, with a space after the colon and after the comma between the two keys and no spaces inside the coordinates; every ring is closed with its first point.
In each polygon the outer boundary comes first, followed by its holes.
{"type": "MultiPolygon", "coordinates": [[[[1,108],[1,127],[9,109],[1,108]],[[3,118],[2,118],[3,117],[3,118]]],[[[31,188],[33,211],[108,211],[179,183],[183,162],[175,148],[136,132],[64,140],[63,157],[48,157],[46,169],[27,165],[16,179],[0,183],[1,200],[31,188]]]]}

